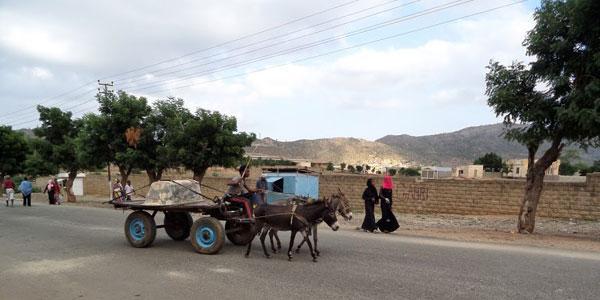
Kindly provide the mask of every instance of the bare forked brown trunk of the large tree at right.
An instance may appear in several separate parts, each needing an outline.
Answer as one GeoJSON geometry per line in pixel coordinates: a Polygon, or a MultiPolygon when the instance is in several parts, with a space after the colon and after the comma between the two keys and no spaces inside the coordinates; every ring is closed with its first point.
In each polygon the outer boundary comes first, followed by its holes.
{"type": "Polygon", "coordinates": [[[519,210],[519,219],[517,223],[517,230],[519,233],[533,233],[535,228],[535,213],[537,211],[537,205],[542,195],[542,188],[544,187],[544,176],[546,175],[546,169],[552,165],[558,159],[560,151],[564,144],[561,139],[557,139],[552,142],[552,145],[542,157],[535,162],[535,152],[537,152],[537,146],[529,146],[529,165],[527,169],[527,181],[525,184],[525,195],[523,202],[521,203],[521,209],[519,210]]]}

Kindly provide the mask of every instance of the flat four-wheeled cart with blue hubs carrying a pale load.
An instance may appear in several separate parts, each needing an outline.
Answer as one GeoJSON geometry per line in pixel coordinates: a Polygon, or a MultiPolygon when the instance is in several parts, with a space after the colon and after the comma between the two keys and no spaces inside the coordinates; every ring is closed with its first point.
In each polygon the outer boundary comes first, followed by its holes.
{"type": "Polygon", "coordinates": [[[136,248],[152,245],[157,228],[164,228],[176,241],[190,237],[196,252],[202,254],[218,253],[225,237],[235,245],[246,245],[256,234],[246,201],[203,197],[194,180],[154,182],[143,200],[110,203],[133,211],[125,221],[125,236],[136,248]],[[155,221],[159,212],[164,214],[162,225],[155,221]],[[194,221],[192,214],[201,216],[194,221]],[[225,221],[225,227],[220,221],[225,221]]]}

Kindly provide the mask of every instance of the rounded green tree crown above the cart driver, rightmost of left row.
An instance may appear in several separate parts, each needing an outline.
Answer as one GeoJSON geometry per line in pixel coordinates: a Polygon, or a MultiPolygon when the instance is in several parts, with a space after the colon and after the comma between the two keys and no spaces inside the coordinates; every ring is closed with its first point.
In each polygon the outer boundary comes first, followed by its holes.
{"type": "Polygon", "coordinates": [[[237,132],[235,117],[199,109],[183,124],[174,146],[182,164],[201,182],[211,166],[235,166],[255,139],[254,134],[237,132]]]}

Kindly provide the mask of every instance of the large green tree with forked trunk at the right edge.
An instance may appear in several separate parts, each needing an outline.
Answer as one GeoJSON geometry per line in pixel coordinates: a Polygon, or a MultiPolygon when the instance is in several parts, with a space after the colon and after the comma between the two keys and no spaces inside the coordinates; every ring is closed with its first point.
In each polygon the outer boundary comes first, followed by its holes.
{"type": "Polygon", "coordinates": [[[506,137],[527,147],[529,169],[519,211],[519,232],[533,232],[545,170],[565,142],[598,144],[600,134],[600,1],[542,1],[524,46],[531,67],[491,62],[488,104],[507,125],[506,137]],[[547,87],[544,91],[538,86],[547,87]],[[524,126],[513,126],[522,124],[524,126]],[[544,141],[550,146],[536,160],[544,141]]]}

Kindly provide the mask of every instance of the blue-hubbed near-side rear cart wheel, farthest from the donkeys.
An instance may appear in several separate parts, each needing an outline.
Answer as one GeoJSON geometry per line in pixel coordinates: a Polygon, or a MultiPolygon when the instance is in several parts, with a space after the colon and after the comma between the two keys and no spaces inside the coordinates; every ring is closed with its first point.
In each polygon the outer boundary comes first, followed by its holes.
{"type": "Polygon", "coordinates": [[[125,236],[133,247],[145,248],[150,246],[156,237],[154,218],[145,211],[132,212],[125,221],[125,236]]]}

